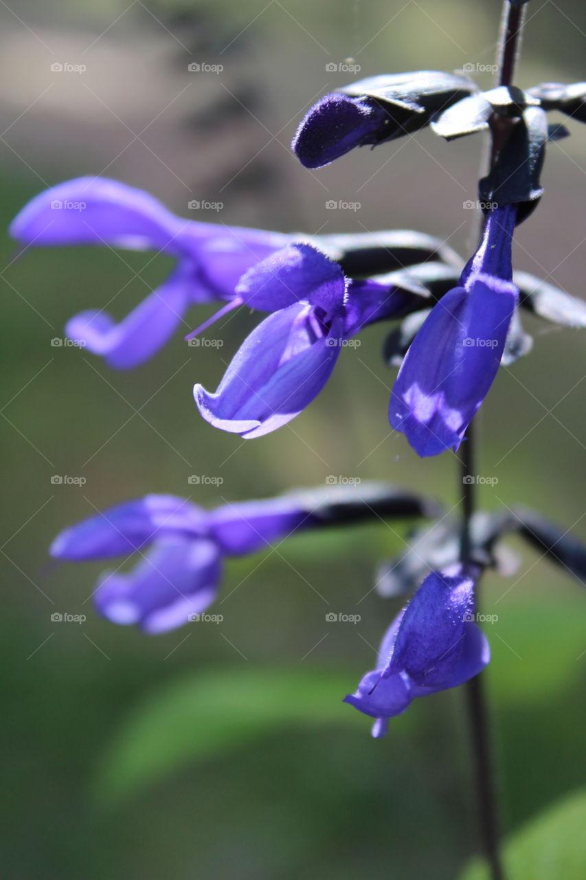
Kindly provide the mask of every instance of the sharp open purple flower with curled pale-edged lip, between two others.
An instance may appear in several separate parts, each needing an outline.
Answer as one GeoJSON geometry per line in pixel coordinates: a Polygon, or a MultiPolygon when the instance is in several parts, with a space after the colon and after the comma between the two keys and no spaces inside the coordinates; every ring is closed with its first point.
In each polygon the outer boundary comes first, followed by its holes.
{"type": "Polygon", "coordinates": [[[351,281],[317,248],[293,244],[250,269],[237,287],[253,308],[277,309],[238,349],[215,393],[195,385],[201,415],[247,438],[290,422],[326,385],[341,348],[373,321],[398,315],[408,294],[351,281]]]}

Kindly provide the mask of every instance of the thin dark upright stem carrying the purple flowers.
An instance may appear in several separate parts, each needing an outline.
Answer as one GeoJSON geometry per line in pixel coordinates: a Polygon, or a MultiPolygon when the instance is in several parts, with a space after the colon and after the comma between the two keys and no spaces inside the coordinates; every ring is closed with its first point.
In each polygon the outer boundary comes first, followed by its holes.
{"type": "MultiPolygon", "coordinates": [[[[524,25],[524,12],[524,4],[513,6],[509,3],[509,0],[505,0],[502,7],[501,37],[497,56],[498,72],[496,82],[498,85],[511,85],[513,82],[524,25]]],[[[509,124],[509,120],[494,116],[491,123],[490,167],[492,167],[501,149],[509,124]]],[[[460,455],[460,480],[462,485],[460,560],[465,565],[472,561],[471,524],[475,510],[473,477],[476,470],[474,434],[475,431],[471,422],[466,431],[466,440],[462,444],[460,455]]],[[[505,880],[499,847],[499,822],[496,793],[494,790],[490,722],[483,676],[477,675],[471,678],[466,683],[465,693],[470,721],[470,738],[482,846],[492,880],[505,880]]]]}

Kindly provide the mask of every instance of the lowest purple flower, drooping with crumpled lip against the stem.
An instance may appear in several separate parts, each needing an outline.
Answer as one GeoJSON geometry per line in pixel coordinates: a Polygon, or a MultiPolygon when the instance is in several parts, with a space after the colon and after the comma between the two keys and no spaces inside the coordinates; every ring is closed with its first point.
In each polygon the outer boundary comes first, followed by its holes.
{"type": "Polygon", "coordinates": [[[487,665],[488,642],[474,622],[475,577],[459,564],[432,572],[393,620],[377,669],[344,700],[377,719],[373,737],[384,737],[389,718],[404,712],[415,697],[457,687],[487,665]]]}

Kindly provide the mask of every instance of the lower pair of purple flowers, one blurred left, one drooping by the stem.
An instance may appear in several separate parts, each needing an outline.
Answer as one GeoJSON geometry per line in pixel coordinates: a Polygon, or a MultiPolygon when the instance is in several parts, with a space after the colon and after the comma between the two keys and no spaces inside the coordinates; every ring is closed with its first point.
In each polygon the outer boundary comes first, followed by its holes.
{"type": "MultiPolygon", "coordinates": [[[[174,495],[147,495],[65,529],[50,554],[74,562],[138,554],[129,573],[117,568],[99,577],[93,602],[112,623],[161,634],[209,608],[224,558],[257,553],[302,530],[435,512],[416,495],[369,485],[360,495],[297,492],[210,511],[174,495]]],[[[477,576],[459,565],[431,573],[392,622],[377,669],[345,700],[377,719],[373,736],[384,736],[389,718],[415,697],[456,687],[488,663],[487,640],[473,622],[477,576]]]]}

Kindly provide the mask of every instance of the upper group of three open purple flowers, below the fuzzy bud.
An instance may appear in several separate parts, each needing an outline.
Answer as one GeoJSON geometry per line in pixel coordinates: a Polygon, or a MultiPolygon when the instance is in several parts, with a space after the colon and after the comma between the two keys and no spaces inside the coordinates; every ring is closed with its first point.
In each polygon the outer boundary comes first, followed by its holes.
{"type": "MultiPolygon", "coordinates": [[[[389,419],[420,455],[458,448],[494,380],[518,299],[511,283],[514,224],[511,206],[488,217],[458,287],[440,298],[399,372],[389,419]]],[[[206,421],[248,438],[281,427],[307,407],[342,348],[366,326],[399,319],[424,304],[392,273],[350,278],[316,243],[183,221],[149,194],[114,180],[80,178],[53,187],[20,212],[11,234],[26,246],[106,244],[176,257],[169,280],[121,323],[99,310],[70,319],[68,335],[114,367],[143,363],[191,304],[224,301],[214,319],[238,305],[268,312],[216,392],[194,387],[206,421]],[[55,209],[55,202],[85,207],[55,209]]]]}

